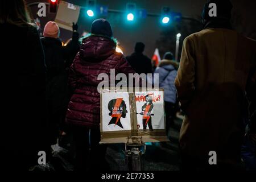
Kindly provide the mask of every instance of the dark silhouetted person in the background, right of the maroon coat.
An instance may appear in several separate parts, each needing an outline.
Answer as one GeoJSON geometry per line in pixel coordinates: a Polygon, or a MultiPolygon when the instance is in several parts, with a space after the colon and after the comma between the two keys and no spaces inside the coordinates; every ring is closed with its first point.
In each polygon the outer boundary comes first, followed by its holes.
{"type": "Polygon", "coordinates": [[[144,48],[145,45],[142,42],[138,42],[135,45],[135,52],[126,57],[131,67],[138,74],[152,73],[151,60],[147,56],[143,55],[144,48]]]}

